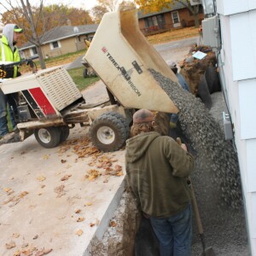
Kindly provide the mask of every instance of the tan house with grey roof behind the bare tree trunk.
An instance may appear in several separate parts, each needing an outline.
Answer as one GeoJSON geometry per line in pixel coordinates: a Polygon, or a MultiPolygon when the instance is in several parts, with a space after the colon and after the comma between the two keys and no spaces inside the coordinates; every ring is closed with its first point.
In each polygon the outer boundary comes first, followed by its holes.
{"type": "MultiPolygon", "coordinates": [[[[93,37],[97,29],[96,24],[83,26],[58,26],[45,32],[40,41],[44,59],[65,55],[84,49],[84,39],[93,37]]],[[[37,54],[34,44],[26,43],[20,48],[21,58],[29,58],[37,54]]]]}

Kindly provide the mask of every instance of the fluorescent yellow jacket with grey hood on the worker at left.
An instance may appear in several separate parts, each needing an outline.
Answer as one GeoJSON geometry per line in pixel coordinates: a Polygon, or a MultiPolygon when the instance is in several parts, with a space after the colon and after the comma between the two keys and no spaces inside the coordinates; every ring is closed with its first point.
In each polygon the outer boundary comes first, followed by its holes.
{"type": "MultiPolygon", "coordinates": [[[[14,45],[14,28],[15,24],[7,24],[3,28],[3,36],[0,39],[0,64],[20,61],[19,50],[14,45]]],[[[6,71],[8,73],[6,79],[16,78],[18,67],[8,67],[6,71]]]]}

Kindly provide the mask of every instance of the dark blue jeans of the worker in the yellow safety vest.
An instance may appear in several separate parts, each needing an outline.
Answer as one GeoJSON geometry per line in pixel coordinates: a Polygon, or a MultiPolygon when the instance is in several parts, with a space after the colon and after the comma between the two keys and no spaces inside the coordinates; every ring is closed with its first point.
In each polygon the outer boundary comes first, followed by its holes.
{"type": "Polygon", "coordinates": [[[4,95],[3,90],[0,89],[0,136],[3,137],[5,134],[9,133],[8,129],[8,121],[7,121],[7,104],[12,106],[12,108],[9,108],[10,113],[10,119],[11,123],[13,125],[13,128],[15,127],[15,113],[13,110],[16,108],[15,99],[12,95],[4,95]]]}

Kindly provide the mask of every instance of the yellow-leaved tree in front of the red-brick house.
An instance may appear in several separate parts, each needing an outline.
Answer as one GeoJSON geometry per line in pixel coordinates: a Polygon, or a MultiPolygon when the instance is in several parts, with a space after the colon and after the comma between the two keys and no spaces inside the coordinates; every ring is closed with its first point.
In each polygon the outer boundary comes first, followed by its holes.
{"type": "Polygon", "coordinates": [[[170,9],[175,3],[181,3],[194,15],[195,27],[199,27],[199,5],[191,5],[189,0],[135,0],[135,3],[144,13],[159,12],[164,8],[170,9]]]}

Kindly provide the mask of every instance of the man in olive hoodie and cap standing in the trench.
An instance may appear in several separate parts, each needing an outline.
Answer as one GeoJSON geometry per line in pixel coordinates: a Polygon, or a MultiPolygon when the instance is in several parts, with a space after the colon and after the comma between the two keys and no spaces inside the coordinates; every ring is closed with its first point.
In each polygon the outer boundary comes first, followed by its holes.
{"type": "Polygon", "coordinates": [[[127,182],[138,210],[150,219],[161,256],[191,255],[192,212],[186,177],[194,158],[185,144],[156,132],[154,114],[140,109],[133,115],[126,141],[127,182]]]}

